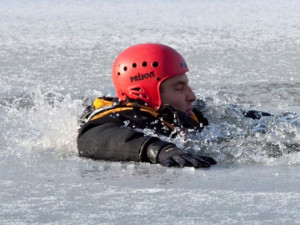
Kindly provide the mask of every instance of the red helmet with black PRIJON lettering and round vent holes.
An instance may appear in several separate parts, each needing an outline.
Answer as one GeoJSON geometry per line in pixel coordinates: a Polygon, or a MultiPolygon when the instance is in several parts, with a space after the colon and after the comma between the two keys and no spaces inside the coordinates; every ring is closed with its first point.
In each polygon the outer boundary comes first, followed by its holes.
{"type": "Polygon", "coordinates": [[[117,56],[112,79],[120,100],[139,99],[159,109],[162,82],[187,71],[183,57],[173,48],[146,43],[131,46],[117,56]]]}

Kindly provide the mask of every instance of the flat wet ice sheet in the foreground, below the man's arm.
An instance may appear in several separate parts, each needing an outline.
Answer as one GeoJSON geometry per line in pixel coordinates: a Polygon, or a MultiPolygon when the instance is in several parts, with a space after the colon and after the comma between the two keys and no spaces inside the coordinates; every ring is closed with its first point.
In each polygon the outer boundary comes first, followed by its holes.
{"type": "Polygon", "coordinates": [[[300,175],[288,166],[171,169],[54,155],[29,163],[2,170],[4,224],[296,224],[299,219],[300,175]]]}

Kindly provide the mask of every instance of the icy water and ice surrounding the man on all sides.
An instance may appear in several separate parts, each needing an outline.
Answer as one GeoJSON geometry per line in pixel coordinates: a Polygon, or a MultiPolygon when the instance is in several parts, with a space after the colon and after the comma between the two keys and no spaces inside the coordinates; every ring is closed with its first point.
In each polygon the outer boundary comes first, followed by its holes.
{"type": "Polygon", "coordinates": [[[300,224],[299,62],[296,0],[1,0],[0,223],[300,224]],[[175,142],[217,166],[78,157],[77,118],[141,42],[186,58],[211,125],[175,142]]]}

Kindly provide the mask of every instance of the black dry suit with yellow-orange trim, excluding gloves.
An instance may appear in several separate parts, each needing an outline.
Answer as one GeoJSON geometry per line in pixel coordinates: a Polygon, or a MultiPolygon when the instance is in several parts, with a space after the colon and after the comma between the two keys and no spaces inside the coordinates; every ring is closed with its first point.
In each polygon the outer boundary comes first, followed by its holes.
{"type": "Polygon", "coordinates": [[[171,137],[181,128],[201,131],[208,121],[200,111],[195,110],[194,113],[189,116],[170,106],[155,111],[138,103],[121,102],[117,98],[97,98],[80,118],[77,139],[79,155],[111,161],[157,163],[160,150],[175,145],[145,135],[144,129],[171,137]]]}

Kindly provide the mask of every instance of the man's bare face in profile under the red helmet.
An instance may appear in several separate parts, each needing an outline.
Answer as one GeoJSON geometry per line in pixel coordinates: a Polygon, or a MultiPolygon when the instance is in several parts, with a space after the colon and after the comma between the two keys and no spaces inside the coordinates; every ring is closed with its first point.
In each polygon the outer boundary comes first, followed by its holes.
{"type": "Polygon", "coordinates": [[[165,80],[160,87],[162,105],[168,104],[175,109],[192,113],[192,102],[196,96],[188,84],[186,74],[165,80]]]}

